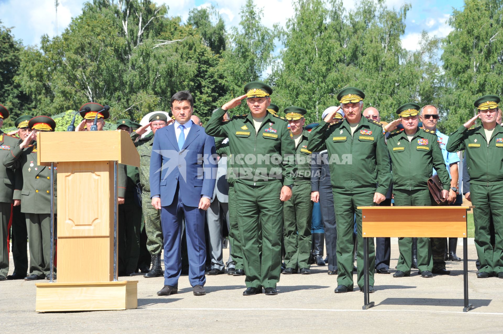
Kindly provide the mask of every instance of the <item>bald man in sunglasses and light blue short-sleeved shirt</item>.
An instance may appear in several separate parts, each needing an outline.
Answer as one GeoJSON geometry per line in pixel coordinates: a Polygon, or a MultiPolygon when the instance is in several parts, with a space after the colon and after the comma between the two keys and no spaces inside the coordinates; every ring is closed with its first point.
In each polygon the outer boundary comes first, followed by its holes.
{"type": "MultiPolygon", "coordinates": [[[[423,129],[430,130],[430,132],[437,135],[438,143],[440,149],[442,150],[442,156],[449,172],[449,177],[451,178],[451,188],[449,189],[449,197],[447,198],[448,204],[462,203],[461,195],[458,195],[458,162],[459,157],[456,153],[447,152],[446,145],[449,140],[449,136],[444,135],[437,130],[437,123],[439,119],[438,109],[435,105],[428,104],[421,108],[420,120],[423,122],[423,129]],[[458,199],[458,200],[456,200],[458,199]]],[[[433,174],[437,174],[433,170],[433,174]]],[[[445,269],[445,250],[446,250],[445,238],[431,238],[432,243],[432,257],[433,257],[433,273],[440,275],[449,275],[451,272],[445,269]]],[[[456,255],[456,245],[458,243],[458,238],[449,239],[449,252],[452,254],[451,260],[461,261],[456,255]]]]}

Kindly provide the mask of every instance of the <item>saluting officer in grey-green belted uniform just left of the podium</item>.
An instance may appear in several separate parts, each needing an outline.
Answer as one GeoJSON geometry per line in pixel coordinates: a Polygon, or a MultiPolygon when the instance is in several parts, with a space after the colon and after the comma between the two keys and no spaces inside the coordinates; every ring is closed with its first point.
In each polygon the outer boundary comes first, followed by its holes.
{"type": "Polygon", "coordinates": [[[14,199],[21,201],[21,212],[26,216],[30,270],[25,280],[31,281],[49,277],[51,182],[54,182],[54,207],[57,199],[56,171],[54,180],[51,180],[51,167],[37,165],[37,143],[32,142],[37,138],[37,132],[54,131],[56,122],[47,116],[37,116],[29,121],[28,127],[33,131],[24,141],[18,141],[3,161],[4,166],[19,169],[22,173],[21,187],[14,190],[14,199]]]}

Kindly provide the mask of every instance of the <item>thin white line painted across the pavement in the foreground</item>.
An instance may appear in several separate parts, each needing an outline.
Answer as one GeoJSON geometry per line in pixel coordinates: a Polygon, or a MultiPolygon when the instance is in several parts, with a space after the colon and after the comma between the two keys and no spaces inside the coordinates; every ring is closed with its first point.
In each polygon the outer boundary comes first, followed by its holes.
{"type": "MultiPolygon", "coordinates": [[[[461,307],[461,306],[459,306],[461,307]]],[[[174,307],[138,307],[147,310],[194,310],[194,311],[329,311],[329,312],[435,312],[435,313],[464,313],[464,314],[490,314],[503,315],[496,312],[462,312],[462,311],[436,311],[436,310],[389,310],[389,309],[331,309],[331,308],[174,308],[174,307]]]]}

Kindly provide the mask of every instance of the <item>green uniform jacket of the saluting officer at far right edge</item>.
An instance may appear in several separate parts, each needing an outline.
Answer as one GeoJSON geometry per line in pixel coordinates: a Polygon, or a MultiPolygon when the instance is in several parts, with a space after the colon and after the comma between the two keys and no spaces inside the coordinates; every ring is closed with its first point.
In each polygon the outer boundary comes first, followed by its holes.
{"type": "Polygon", "coordinates": [[[503,127],[496,124],[487,144],[483,127],[461,126],[449,137],[446,149],[448,152],[465,150],[471,184],[503,184],[503,127]]]}

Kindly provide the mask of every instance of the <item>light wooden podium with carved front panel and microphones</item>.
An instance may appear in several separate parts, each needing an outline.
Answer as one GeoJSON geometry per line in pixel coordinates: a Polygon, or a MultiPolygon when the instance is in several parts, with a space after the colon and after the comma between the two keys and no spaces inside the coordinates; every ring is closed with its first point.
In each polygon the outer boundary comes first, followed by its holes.
{"type": "Polygon", "coordinates": [[[39,165],[57,164],[58,247],[35,310],[136,308],[138,281],[117,281],[117,164],[140,164],[128,133],[39,132],[37,146],[39,165]]]}

